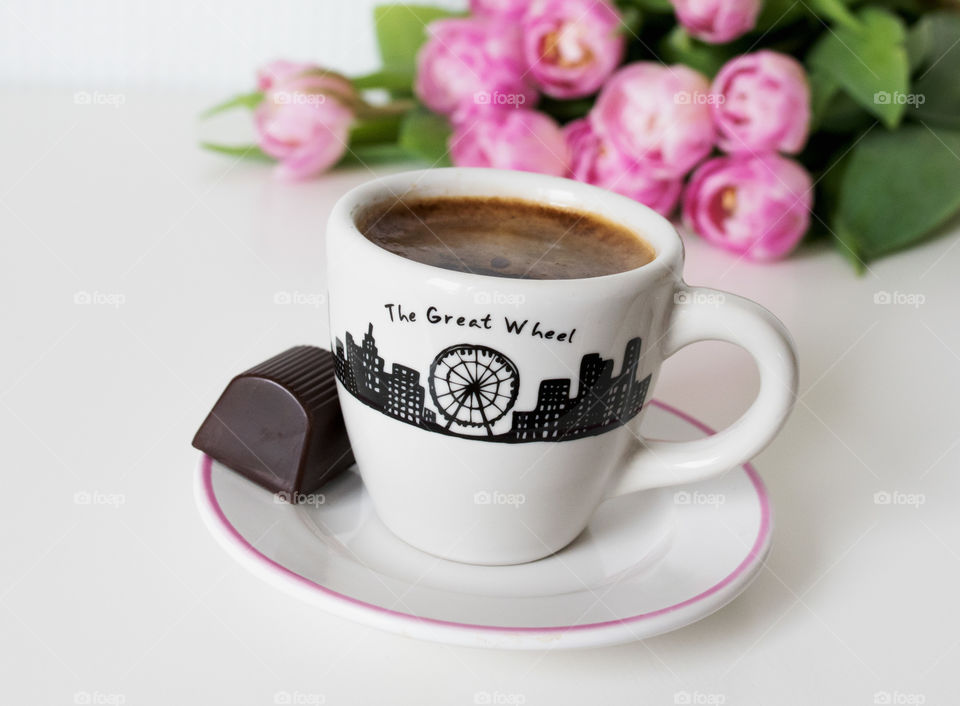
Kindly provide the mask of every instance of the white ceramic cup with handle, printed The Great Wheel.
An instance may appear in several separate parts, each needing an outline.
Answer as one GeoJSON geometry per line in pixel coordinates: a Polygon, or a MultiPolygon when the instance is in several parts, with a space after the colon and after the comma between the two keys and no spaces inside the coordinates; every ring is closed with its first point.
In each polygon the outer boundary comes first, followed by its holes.
{"type": "Polygon", "coordinates": [[[603,189],[492,169],[395,174],[340,199],[327,255],[337,386],[360,474],[386,526],[440,557],[515,564],[552,554],[606,498],[748,461],[793,405],[796,353],[783,325],[749,300],[688,287],[670,222],[603,189]],[[366,209],[421,196],[599,214],[642,235],[656,257],[601,277],[507,279],[405,259],[357,229],[366,209]],[[703,340],[754,357],[756,400],[706,439],[641,438],[661,363],[703,340]]]}

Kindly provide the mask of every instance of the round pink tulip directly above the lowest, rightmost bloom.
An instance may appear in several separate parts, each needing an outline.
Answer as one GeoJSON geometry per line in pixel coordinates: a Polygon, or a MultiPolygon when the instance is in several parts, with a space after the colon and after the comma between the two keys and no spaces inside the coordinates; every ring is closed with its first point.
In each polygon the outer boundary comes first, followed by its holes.
{"type": "Polygon", "coordinates": [[[793,57],[758,51],[728,61],[713,81],[710,105],[726,152],[795,154],[810,128],[810,86],[793,57]]]}

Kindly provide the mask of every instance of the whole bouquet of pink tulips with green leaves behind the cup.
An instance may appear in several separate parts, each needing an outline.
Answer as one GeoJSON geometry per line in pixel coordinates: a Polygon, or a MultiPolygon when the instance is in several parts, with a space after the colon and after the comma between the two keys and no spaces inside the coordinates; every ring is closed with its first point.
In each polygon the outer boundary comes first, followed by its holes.
{"type": "Polygon", "coordinates": [[[205,146],[276,160],[294,179],[410,157],[566,176],[679,211],[690,231],[750,259],[826,236],[862,267],[960,209],[956,10],[385,5],[374,18],[381,71],[350,79],[274,62],[256,92],[210,111],[252,108],[257,144],[205,146]]]}

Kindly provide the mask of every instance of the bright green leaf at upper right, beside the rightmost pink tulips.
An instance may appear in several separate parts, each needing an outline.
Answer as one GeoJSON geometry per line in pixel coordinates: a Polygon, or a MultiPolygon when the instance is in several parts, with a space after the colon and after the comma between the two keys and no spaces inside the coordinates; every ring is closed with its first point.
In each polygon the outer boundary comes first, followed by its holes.
{"type": "Polygon", "coordinates": [[[814,71],[839,83],[863,108],[896,127],[903,117],[908,86],[906,30],[896,15],[867,7],[858,15],[859,29],[828,29],[807,56],[814,71]]]}

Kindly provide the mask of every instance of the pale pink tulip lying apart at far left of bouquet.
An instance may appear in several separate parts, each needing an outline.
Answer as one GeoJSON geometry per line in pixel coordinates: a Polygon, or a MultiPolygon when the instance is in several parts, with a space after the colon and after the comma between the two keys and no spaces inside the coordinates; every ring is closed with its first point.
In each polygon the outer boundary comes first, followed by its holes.
{"type": "Polygon", "coordinates": [[[347,149],[356,93],[335,73],[310,73],[272,85],[254,113],[260,148],[279,160],[277,175],[305,179],[329,169],[347,149]]]}

